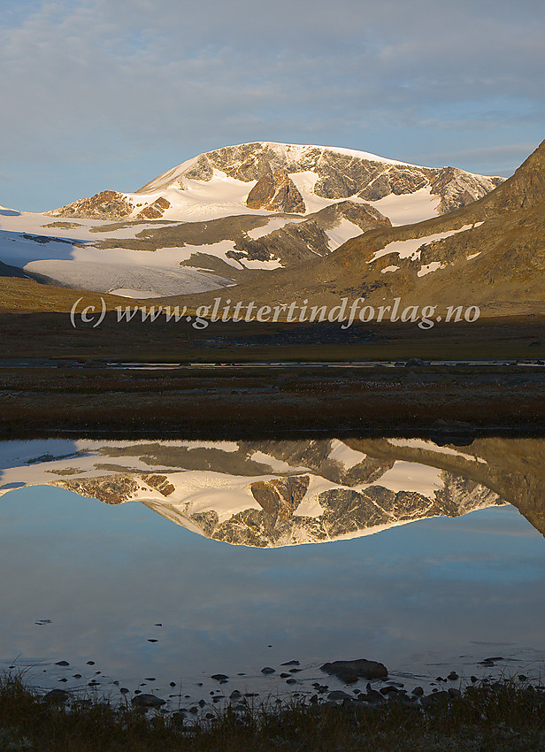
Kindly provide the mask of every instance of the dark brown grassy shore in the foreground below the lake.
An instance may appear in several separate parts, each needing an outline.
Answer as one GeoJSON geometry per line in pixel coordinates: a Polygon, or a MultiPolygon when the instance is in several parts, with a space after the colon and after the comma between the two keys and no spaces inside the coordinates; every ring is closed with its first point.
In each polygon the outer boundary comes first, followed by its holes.
{"type": "MultiPolygon", "coordinates": [[[[238,703],[240,706],[240,703],[238,703]]],[[[127,702],[44,702],[19,676],[0,679],[0,749],[48,752],[533,752],[545,748],[545,692],[504,679],[466,688],[433,708],[269,701],[211,717],[143,713],[127,702]]]]}

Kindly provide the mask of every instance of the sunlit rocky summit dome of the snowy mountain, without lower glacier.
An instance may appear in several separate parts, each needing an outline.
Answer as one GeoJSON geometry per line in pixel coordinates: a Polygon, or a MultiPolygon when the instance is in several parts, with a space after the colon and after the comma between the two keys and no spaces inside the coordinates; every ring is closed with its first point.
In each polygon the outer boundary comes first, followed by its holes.
{"type": "Polygon", "coordinates": [[[365,151],[255,142],[188,159],[134,194],[103,191],[48,213],[188,221],[249,211],[305,215],[349,200],[371,203],[394,224],[407,224],[459,209],[502,181],[454,167],[409,165],[365,151]]]}

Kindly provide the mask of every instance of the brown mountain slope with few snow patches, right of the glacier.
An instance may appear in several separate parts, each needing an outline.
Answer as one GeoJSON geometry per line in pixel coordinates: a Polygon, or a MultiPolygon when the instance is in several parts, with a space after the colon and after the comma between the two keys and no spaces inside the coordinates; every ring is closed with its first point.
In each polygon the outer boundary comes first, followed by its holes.
{"type": "MultiPolygon", "coordinates": [[[[377,228],[298,273],[231,291],[275,304],[303,297],[331,303],[365,296],[379,306],[479,305],[488,315],[541,311],[545,300],[545,142],[487,196],[447,215],[377,228]],[[302,280],[304,282],[302,283],[302,280]]],[[[439,310],[439,309],[438,309],[439,310]]]]}

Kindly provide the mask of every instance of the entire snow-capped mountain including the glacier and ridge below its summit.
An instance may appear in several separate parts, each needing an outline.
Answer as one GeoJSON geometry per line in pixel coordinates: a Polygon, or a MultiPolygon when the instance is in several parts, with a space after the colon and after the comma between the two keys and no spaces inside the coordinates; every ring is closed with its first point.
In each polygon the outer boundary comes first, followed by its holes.
{"type": "Polygon", "coordinates": [[[245,143],[132,194],[104,190],[46,214],[0,211],[0,262],[60,287],[199,293],[325,257],[370,229],[436,217],[502,181],[363,151],[245,143]]]}

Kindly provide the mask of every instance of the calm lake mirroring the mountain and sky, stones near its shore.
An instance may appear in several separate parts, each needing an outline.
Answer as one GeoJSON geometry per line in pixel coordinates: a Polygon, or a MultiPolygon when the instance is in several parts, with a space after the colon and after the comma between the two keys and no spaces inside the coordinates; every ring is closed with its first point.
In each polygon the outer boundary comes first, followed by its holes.
{"type": "Polygon", "coordinates": [[[409,691],[450,671],[537,677],[544,454],[498,438],[4,441],[1,665],[171,707],[346,689],[319,666],[362,657],[409,691]]]}

